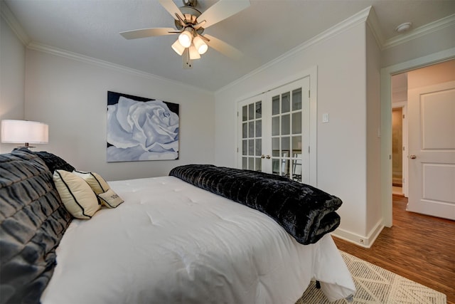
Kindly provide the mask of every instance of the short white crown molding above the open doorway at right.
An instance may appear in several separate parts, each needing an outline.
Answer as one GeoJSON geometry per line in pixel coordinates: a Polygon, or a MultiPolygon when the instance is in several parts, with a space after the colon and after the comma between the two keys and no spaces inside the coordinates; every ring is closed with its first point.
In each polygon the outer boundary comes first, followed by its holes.
{"type": "Polygon", "coordinates": [[[427,35],[429,33],[433,33],[434,31],[439,31],[443,28],[446,28],[448,26],[454,26],[454,25],[455,25],[455,14],[446,16],[437,21],[433,21],[428,24],[425,24],[424,26],[415,28],[414,30],[406,33],[405,35],[395,36],[393,38],[387,39],[387,41],[385,41],[385,43],[382,44],[381,49],[385,50],[386,48],[393,48],[394,46],[398,46],[407,41],[411,41],[412,39],[416,39],[416,38],[422,37],[424,35],[427,35]]]}

